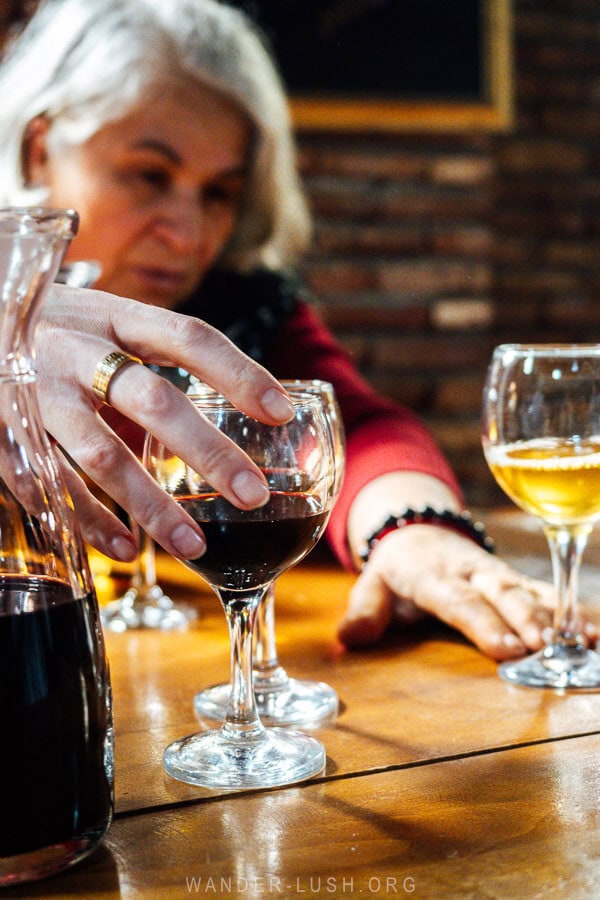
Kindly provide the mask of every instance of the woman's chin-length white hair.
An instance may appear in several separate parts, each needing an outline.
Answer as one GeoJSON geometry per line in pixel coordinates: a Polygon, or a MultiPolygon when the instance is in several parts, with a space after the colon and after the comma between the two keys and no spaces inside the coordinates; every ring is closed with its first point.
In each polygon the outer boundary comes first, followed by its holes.
{"type": "Polygon", "coordinates": [[[248,196],[222,264],[292,262],[310,225],[285,91],[257,27],[218,0],[43,0],[0,65],[0,203],[44,203],[23,171],[36,117],[52,148],[78,145],[173,75],[231,98],[254,125],[248,196]]]}

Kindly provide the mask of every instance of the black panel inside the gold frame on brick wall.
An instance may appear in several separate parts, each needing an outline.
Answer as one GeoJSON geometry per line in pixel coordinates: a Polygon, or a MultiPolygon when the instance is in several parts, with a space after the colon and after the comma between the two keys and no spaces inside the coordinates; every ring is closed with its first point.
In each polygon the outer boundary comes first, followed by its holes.
{"type": "Polygon", "coordinates": [[[481,100],[484,0],[239,0],[292,95],[481,100]]]}

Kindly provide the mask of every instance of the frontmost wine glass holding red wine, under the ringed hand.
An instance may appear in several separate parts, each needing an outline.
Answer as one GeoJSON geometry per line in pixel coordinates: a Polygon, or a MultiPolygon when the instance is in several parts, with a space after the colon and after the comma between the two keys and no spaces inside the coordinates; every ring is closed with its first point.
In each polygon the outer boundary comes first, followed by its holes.
{"type": "Polygon", "coordinates": [[[202,526],[206,552],[185,565],[217,593],[231,643],[223,725],[175,741],[165,750],[164,766],[174,778],[209,787],[291,784],[320,772],[325,750],[309,735],[266,728],[260,721],[252,685],[253,632],[269,584],[312,549],[327,524],[331,432],[315,397],[293,398],[293,417],[281,426],[260,423],[220,396],[190,399],[261,468],[271,496],[258,509],[238,509],[159,441],[146,441],[148,470],[202,526]]]}

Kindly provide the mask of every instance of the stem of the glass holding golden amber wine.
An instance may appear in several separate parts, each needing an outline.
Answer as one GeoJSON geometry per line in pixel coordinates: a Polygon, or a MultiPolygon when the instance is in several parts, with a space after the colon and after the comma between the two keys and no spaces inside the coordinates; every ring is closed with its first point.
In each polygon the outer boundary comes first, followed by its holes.
{"type": "Polygon", "coordinates": [[[578,582],[581,558],[590,525],[544,525],[550,547],[557,605],[554,613],[553,644],[565,648],[584,648],[578,610],[578,582]]]}

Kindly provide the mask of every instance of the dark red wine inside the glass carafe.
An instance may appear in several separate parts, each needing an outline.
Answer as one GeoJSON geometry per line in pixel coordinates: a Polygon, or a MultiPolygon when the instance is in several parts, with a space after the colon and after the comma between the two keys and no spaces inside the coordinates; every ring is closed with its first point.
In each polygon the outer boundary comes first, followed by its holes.
{"type": "Polygon", "coordinates": [[[106,831],[110,685],[95,600],[53,578],[0,576],[0,857],[106,831]],[[99,649],[100,648],[100,649],[99,649]]]}

